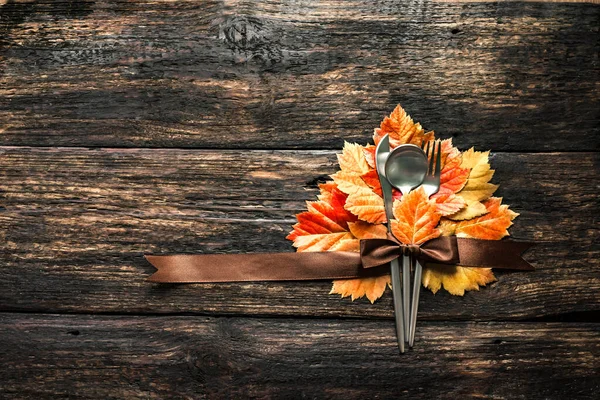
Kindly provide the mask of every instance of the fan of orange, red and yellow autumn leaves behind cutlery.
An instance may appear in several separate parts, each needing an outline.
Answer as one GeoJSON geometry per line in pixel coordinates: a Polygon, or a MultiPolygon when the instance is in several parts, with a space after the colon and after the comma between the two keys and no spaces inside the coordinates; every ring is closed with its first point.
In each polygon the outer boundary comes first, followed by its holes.
{"type": "MultiPolygon", "coordinates": [[[[389,135],[390,147],[435,140],[399,105],[374,130],[375,145],[345,143],[338,154],[340,170],[332,180],[319,185],[316,201],[307,202],[307,211],[287,236],[298,252],[355,251],[361,239],[386,238],[386,216],[381,186],[375,169],[375,148],[389,135]]],[[[421,245],[439,236],[500,240],[519,214],[493,197],[498,188],[490,181],[494,170],[489,151],[473,148],[461,152],[452,139],[442,142],[442,170],[439,191],[427,198],[422,189],[405,196],[394,190],[392,233],[404,244],[421,245]]],[[[462,296],[495,281],[491,268],[427,264],[422,284],[433,293],[445,289],[462,296]]],[[[333,281],[332,294],[367,297],[371,303],[391,287],[389,275],[333,281]]]]}

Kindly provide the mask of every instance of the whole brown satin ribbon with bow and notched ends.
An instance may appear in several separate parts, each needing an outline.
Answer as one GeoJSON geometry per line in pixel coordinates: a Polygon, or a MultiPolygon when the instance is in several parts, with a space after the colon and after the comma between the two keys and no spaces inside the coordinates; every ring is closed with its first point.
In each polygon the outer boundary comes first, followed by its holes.
{"type": "Polygon", "coordinates": [[[387,264],[402,254],[414,254],[422,265],[533,270],[521,253],[533,243],[464,239],[443,236],[421,246],[404,245],[393,237],[361,240],[360,253],[146,255],[158,270],[148,278],[161,283],[299,281],[350,279],[389,273],[387,264]]]}

